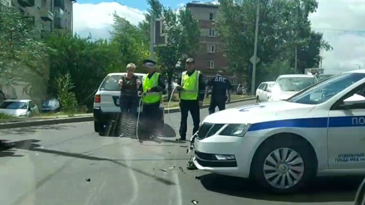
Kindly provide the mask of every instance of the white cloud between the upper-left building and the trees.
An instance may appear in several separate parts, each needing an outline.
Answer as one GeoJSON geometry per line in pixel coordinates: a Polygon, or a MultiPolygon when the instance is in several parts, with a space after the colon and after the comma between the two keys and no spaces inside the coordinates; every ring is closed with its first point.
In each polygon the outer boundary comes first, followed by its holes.
{"type": "Polygon", "coordinates": [[[91,32],[93,39],[109,38],[112,30],[113,13],[126,18],[132,24],[145,19],[142,11],[120,5],[116,2],[100,4],[73,4],[73,30],[81,37],[91,32]]]}

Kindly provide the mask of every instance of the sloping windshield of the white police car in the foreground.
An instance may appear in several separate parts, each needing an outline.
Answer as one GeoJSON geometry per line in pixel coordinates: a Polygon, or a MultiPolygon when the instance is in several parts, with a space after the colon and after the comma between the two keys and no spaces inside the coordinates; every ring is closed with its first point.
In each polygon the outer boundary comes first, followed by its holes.
{"type": "Polygon", "coordinates": [[[311,105],[320,104],[363,78],[365,78],[365,73],[339,74],[302,90],[288,98],[287,101],[311,105]]]}

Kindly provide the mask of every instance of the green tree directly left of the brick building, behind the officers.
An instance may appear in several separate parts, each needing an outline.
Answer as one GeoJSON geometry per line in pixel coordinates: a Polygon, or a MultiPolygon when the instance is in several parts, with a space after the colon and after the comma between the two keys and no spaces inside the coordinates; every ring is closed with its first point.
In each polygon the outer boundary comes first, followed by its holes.
{"type": "Polygon", "coordinates": [[[200,29],[188,9],[173,11],[165,8],[158,0],[147,0],[150,8],[146,13],[146,20],[139,24],[146,36],[150,36],[150,20],[154,18],[164,19],[165,32],[168,35],[167,46],[155,49],[158,62],[163,73],[168,76],[169,96],[172,92],[171,82],[176,74],[176,64],[187,57],[194,57],[199,49],[200,29]]]}

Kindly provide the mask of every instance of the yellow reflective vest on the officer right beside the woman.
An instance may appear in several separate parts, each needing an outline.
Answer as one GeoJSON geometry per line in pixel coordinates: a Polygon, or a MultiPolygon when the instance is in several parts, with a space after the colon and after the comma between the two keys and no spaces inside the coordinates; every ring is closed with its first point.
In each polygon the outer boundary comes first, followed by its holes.
{"type": "Polygon", "coordinates": [[[148,74],[143,76],[143,92],[146,93],[146,96],[142,98],[142,102],[145,104],[152,104],[156,102],[160,102],[162,99],[162,94],[160,92],[150,92],[147,93],[147,90],[153,87],[158,86],[158,77],[160,73],[154,73],[151,78],[148,78],[148,74]]]}

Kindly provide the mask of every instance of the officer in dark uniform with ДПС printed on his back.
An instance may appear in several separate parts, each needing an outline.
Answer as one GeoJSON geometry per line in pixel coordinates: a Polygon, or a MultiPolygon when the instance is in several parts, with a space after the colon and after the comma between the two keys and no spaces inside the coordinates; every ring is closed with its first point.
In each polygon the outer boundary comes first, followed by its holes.
{"type": "Polygon", "coordinates": [[[212,77],[207,84],[206,93],[212,88],[212,96],[209,105],[209,115],[215,112],[215,107],[218,106],[219,111],[226,109],[226,101],[231,102],[232,85],[228,78],[223,76],[223,71],[219,70],[217,75],[212,77]],[[228,93],[228,97],[227,97],[228,93]]]}

